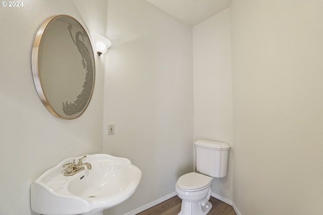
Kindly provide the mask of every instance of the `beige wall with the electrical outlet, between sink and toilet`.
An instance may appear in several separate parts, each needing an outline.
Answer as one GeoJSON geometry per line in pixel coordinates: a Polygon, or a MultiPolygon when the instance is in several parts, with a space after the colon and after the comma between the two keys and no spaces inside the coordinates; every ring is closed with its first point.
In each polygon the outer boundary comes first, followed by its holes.
{"type": "Polygon", "coordinates": [[[192,171],[192,28],[144,0],[109,0],[106,29],[103,153],[142,171],[136,192],[104,211],[124,214],[174,194],[192,171]]]}

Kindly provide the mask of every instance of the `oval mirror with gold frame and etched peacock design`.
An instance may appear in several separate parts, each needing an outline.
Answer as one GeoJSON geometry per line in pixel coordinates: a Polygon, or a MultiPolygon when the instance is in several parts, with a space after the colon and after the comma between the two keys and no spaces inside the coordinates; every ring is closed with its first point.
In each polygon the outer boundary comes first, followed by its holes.
{"type": "Polygon", "coordinates": [[[95,80],[93,49],[82,25],[67,15],[49,18],[35,36],[31,58],[35,87],[47,110],[62,119],[82,115],[95,80]]]}

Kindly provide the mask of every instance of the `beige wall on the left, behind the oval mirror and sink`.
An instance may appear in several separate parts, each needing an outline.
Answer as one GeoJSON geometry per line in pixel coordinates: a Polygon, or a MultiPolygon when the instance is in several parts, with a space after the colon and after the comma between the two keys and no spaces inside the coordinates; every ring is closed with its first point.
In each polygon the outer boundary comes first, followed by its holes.
{"type": "MultiPolygon", "coordinates": [[[[103,86],[99,81],[95,84],[92,101],[80,118],[52,116],[38,98],[32,79],[34,37],[50,16],[68,14],[85,22],[74,1],[27,1],[22,8],[1,7],[0,11],[0,214],[27,215],[33,214],[30,185],[45,170],[64,158],[102,151],[103,86]]],[[[96,79],[102,80],[103,67],[96,66],[96,79]]]]}

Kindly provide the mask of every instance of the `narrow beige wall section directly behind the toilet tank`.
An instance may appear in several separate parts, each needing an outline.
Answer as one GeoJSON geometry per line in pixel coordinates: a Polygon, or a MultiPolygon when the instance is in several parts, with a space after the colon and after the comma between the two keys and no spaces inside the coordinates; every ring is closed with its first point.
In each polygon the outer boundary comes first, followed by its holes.
{"type": "Polygon", "coordinates": [[[232,200],[233,119],[229,9],[193,27],[194,139],[227,142],[229,168],[212,181],[214,196],[232,200]]]}

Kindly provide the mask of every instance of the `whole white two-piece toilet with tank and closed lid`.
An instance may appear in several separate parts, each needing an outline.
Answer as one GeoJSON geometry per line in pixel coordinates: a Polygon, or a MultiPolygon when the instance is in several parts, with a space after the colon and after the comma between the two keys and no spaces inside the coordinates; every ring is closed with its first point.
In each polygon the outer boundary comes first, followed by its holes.
{"type": "Polygon", "coordinates": [[[227,175],[228,144],[199,139],[195,141],[195,147],[197,173],[182,175],[176,183],[175,190],[182,199],[182,208],[178,215],[207,214],[212,207],[208,201],[212,179],[227,175]]]}

